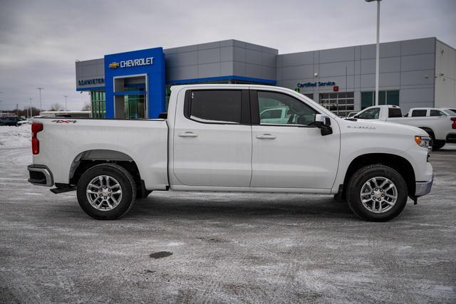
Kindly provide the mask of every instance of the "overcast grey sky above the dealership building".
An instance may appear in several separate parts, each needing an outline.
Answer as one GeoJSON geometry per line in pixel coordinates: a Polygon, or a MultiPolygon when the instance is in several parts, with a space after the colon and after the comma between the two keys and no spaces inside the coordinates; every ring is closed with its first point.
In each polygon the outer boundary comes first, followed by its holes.
{"type": "MultiPolygon", "coordinates": [[[[108,53],[238,39],[311,51],[375,43],[375,4],[300,1],[0,0],[0,109],[64,104],[81,110],[75,61],[108,53]]],[[[435,36],[456,47],[456,0],[383,0],[380,42],[435,36]]]]}

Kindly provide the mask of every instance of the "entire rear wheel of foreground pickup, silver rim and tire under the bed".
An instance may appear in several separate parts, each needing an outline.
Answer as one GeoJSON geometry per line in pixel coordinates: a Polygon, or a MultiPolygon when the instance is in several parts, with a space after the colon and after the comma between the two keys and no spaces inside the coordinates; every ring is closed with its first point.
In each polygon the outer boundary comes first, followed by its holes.
{"type": "Polygon", "coordinates": [[[82,174],[77,196],[79,206],[94,219],[118,219],[133,205],[136,185],[118,164],[98,164],[82,174]]]}

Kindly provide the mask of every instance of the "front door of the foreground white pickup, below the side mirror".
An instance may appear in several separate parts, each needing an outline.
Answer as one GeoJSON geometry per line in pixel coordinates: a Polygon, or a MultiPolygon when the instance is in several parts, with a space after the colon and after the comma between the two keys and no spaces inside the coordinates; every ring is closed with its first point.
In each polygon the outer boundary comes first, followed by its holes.
{"type": "Polygon", "coordinates": [[[340,135],[321,136],[314,127],[317,110],[281,92],[251,91],[252,182],[251,187],[331,189],[336,179],[340,135]],[[261,112],[281,108],[289,113],[274,123],[261,112]],[[256,117],[255,117],[256,116],[256,117]]]}

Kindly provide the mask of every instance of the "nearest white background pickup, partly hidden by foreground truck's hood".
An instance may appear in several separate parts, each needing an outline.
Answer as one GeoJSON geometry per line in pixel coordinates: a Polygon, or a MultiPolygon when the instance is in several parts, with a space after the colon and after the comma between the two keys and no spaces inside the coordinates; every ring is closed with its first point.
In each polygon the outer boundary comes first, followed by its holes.
{"type": "MultiPolygon", "coordinates": [[[[413,114],[413,109],[411,111],[413,114]]],[[[456,115],[403,117],[397,105],[373,105],[353,117],[419,127],[431,137],[434,150],[442,148],[447,142],[456,143],[456,115]]]]}

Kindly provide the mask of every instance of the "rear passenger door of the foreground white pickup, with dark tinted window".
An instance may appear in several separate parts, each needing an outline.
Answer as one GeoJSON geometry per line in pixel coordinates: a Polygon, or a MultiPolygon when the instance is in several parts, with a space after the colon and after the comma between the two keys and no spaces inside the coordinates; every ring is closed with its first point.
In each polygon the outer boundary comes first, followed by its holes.
{"type": "Polygon", "coordinates": [[[174,128],[174,174],[184,185],[249,187],[248,90],[188,90],[174,128]]]}

